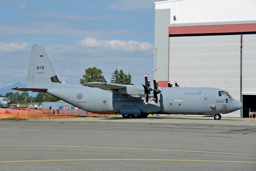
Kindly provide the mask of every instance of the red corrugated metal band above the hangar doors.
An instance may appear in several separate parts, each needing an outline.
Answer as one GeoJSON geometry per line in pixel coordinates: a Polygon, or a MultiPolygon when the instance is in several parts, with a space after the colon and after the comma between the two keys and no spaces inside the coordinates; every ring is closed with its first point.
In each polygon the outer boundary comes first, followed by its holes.
{"type": "Polygon", "coordinates": [[[256,32],[256,24],[225,24],[210,26],[169,27],[169,35],[256,32]]]}

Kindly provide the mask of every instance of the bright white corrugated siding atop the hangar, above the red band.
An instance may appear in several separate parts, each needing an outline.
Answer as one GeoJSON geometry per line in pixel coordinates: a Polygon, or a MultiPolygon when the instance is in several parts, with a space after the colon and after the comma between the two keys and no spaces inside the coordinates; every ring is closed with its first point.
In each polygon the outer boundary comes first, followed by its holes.
{"type": "Polygon", "coordinates": [[[156,3],[155,9],[171,9],[170,24],[256,20],[255,0],[182,0],[156,3]]]}

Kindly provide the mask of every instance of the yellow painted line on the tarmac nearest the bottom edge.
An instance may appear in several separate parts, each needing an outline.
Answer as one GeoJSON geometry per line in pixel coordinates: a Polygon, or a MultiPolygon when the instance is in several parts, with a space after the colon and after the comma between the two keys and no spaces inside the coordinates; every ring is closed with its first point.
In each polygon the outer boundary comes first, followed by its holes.
{"type": "Polygon", "coordinates": [[[178,160],[178,159],[60,159],[60,160],[0,161],[0,163],[40,162],[40,161],[197,161],[197,162],[222,162],[222,163],[256,163],[256,161],[178,160]]]}

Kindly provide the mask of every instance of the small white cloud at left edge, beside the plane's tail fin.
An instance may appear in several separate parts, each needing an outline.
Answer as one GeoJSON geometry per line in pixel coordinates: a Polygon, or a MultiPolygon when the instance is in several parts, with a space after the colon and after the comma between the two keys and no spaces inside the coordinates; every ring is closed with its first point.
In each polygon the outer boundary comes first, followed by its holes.
{"type": "Polygon", "coordinates": [[[28,50],[28,43],[26,42],[0,42],[0,51],[13,52],[18,50],[28,50]]]}

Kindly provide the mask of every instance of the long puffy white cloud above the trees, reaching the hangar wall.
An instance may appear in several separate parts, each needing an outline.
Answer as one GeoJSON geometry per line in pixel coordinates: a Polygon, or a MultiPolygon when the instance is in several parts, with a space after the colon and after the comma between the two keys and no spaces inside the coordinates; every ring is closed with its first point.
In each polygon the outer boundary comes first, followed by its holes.
{"type": "Polygon", "coordinates": [[[80,41],[80,44],[88,48],[104,48],[109,50],[144,52],[152,51],[153,44],[148,42],[137,42],[134,40],[98,40],[96,38],[87,37],[80,41]]]}

